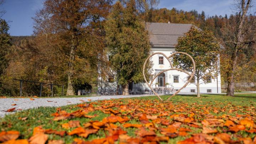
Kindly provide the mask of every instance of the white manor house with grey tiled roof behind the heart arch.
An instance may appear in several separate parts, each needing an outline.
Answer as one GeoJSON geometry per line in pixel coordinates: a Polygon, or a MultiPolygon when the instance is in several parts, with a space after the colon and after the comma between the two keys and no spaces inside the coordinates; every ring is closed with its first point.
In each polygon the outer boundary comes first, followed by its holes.
{"type": "MultiPolygon", "coordinates": [[[[185,36],[184,33],[190,30],[191,24],[176,24],[176,23],[146,23],[146,29],[149,32],[151,52],[161,52],[167,57],[175,51],[178,37],[185,36]]],[[[153,61],[153,73],[158,74],[162,70],[170,68],[170,64],[163,55],[156,54],[151,60],[153,61]]],[[[174,90],[180,89],[187,81],[187,74],[170,70],[159,75],[153,82],[153,87],[174,87],[174,90]],[[166,85],[170,84],[170,85],[166,85]],[[158,85],[155,85],[158,84],[158,85]]],[[[200,85],[200,92],[202,93],[220,93],[220,74],[215,79],[209,78],[207,84],[203,81],[200,85]]],[[[145,83],[133,84],[133,91],[148,87],[145,83]]],[[[188,84],[181,92],[197,92],[196,85],[188,84]]]]}

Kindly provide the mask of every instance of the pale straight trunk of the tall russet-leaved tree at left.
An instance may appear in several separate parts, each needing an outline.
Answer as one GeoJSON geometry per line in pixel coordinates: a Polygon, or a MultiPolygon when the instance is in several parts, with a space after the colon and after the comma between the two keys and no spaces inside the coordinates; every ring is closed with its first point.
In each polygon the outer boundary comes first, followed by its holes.
{"type": "Polygon", "coordinates": [[[73,62],[75,60],[75,50],[74,50],[74,41],[72,41],[72,46],[70,49],[70,54],[69,54],[69,65],[68,65],[68,89],[67,89],[67,96],[73,96],[74,94],[74,89],[72,85],[72,77],[74,75],[74,65],[73,62]]]}

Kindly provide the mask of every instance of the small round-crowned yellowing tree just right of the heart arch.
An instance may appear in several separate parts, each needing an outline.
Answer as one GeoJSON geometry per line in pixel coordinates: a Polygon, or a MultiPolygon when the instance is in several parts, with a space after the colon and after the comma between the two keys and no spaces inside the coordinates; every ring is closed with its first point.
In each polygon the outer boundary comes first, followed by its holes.
{"type": "MultiPolygon", "coordinates": [[[[184,37],[179,37],[177,41],[175,51],[190,54],[196,62],[195,81],[192,83],[197,86],[197,97],[200,97],[199,85],[207,83],[208,78],[214,78],[216,75],[219,43],[213,32],[203,31],[194,26],[185,33],[184,37]]],[[[175,55],[174,64],[177,68],[190,73],[193,71],[192,61],[186,55],[175,55]]]]}

